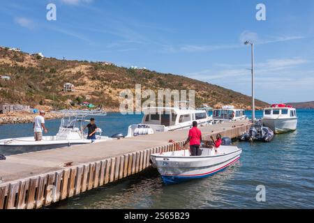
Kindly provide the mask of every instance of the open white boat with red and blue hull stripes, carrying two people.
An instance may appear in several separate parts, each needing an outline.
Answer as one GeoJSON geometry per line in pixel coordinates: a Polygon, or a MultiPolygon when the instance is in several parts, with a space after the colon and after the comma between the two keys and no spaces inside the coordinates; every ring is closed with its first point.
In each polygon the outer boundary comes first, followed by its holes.
{"type": "Polygon", "coordinates": [[[151,162],[164,183],[171,184],[212,176],[237,162],[242,153],[237,146],[220,146],[217,153],[214,148],[201,149],[201,156],[190,156],[188,150],[153,154],[151,162]]]}

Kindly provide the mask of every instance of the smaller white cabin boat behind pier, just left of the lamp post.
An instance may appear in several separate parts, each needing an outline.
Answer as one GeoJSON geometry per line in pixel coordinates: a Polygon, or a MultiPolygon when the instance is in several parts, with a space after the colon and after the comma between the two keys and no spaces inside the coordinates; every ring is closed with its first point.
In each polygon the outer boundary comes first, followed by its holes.
{"type": "Polygon", "coordinates": [[[244,109],[235,109],[234,106],[226,105],[222,109],[213,110],[214,123],[223,123],[225,121],[240,121],[247,119],[244,109]]]}

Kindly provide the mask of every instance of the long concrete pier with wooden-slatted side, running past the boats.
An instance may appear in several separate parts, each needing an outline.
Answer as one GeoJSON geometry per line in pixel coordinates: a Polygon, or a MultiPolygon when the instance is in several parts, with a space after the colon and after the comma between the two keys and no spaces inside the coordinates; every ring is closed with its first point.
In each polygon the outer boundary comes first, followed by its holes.
{"type": "MultiPolygon", "coordinates": [[[[200,129],[209,140],[218,133],[238,137],[250,126],[246,120],[200,129]]],[[[178,150],[187,135],[179,130],[8,156],[0,161],[0,209],[42,208],[137,174],[150,166],[151,154],[178,150]]]]}

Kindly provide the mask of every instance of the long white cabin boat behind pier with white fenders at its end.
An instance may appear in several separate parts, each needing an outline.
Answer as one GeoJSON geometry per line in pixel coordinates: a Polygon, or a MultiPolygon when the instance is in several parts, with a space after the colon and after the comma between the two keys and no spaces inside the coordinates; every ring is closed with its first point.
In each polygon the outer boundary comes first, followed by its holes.
{"type": "Polygon", "coordinates": [[[199,126],[211,125],[213,121],[204,109],[151,107],[143,109],[143,112],[142,123],[130,125],[127,137],[191,128],[193,121],[197,121],[199,126]]]}

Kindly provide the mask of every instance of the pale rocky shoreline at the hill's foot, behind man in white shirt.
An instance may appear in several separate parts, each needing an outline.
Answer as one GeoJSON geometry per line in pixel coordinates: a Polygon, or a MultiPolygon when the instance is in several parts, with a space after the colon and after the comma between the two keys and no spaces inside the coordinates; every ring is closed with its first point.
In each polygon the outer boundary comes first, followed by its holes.
{"type": "MultiPolygon", "coordinates": [[[[33,118],[35,118],[35,116],[37,115],[38,114],[31,114],[28,112],[10,112],[7,114],[0,114],[0,125],[15,123],[32,123],[33,118]]],[[[53,114],[49,112],[45,115],[46,120],[59,118],[64,118],[64,115],[53,114]]]]}

